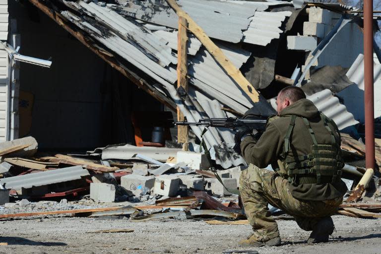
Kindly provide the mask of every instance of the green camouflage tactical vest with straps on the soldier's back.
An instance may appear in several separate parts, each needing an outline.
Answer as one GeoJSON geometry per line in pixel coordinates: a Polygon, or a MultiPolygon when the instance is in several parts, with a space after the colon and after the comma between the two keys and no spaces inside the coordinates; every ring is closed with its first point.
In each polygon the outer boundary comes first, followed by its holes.
{"type": "Polygon", "coordinates": [[[295,115],[291,116],[290,126],[284,137],[282,157],[284,158],[283,163],[288,180],[292,184],[298,184],[298,180],[302,178],[313,179],[310,183],[317,184],[334,183],[341,178],[341,169],[344,166],[341,158],[341,148],[331,128],[328,126],[329,120],[322,113],[320,113],[320,117],[324,123],[324,127],[331,136],[331,142],[329,144],[319,144],[309,121],[306,118],[300,117],[308,128],[314,144],[311,145],[311,152],[309,154],[286,158],[286,154],[290,150],[291,132],[295,126],[295,119],[297,118],[295,115]]]}

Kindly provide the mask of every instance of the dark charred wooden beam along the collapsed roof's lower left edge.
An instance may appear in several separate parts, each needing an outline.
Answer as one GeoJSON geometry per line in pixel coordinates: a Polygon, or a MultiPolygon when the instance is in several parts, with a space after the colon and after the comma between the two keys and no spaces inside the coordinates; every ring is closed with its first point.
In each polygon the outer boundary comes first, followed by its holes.
{"type": "Polygon", "coordinates": [[[92,52],[97,54],[106,63],[110,64],[113,68],[120,71],[124,76],[126,76],[139,88],[143,89],[149,95],[151,95],[156,100],[163,103],[164,105],[166,105],[173,111],[176,111],[176,104],[172,100],[167,98],[161,92],[157,91],[156,88],[150,85],[146,80],[144,80],[143,78],[141,78],[140,76],[132,72],[131,70],[127,69],[126,66],[123,66],[122,64],[120,64],[115,59],[113,54],[105,50],[102,45],[98,45],[97,43],[92,41],[90,38],[88,38],[86,35],[84,35],[81,31],[76,31],[72,29],[67,24],[68,21],[59,12],[45,6],[39,0],[29,0],[29,1],[33,3],[37,8],[39,8],[42,12],[44,12],[46,15],[48,15],[50,18],[52,18],[54,21],[56,21],[57,24],[63,27],[68,33],[70,33],[74,38],[80,41],[88,49],[90,49],[92,52]]]}

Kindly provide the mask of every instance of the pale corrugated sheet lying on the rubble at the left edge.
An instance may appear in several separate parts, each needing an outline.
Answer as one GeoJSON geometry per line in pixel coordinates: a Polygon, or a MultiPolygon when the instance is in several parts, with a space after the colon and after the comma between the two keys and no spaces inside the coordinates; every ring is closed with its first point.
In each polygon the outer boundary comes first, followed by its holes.
{"type": "Polygon", "coordinates": [[[81,177],[89,175],[89,172],[86,169],[83,169],[82,166],[75,166],[16,177],[2,178],[0,180],[0,184],[2,186],[5,184],[5,189],[21,190],[21,188],[29,189],[36,186],[77,180],[81,179],[81,177]]]}

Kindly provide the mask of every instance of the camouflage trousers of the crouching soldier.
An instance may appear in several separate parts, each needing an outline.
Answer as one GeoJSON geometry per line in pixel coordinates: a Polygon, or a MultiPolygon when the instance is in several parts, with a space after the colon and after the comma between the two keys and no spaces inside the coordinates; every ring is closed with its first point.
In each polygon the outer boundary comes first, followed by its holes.
{"type": "Polygon", "coordinates": [[[322,217],[334,214],[343,201],[342,197],[326,201],[296,199],[290,193],[288,180],[253,164],[242,171],[240,192],[249,223],[253,226],[253,236],[258,241],[279,236],[268,203],[291,214],[303,230],[312,231],[322,217]]]}

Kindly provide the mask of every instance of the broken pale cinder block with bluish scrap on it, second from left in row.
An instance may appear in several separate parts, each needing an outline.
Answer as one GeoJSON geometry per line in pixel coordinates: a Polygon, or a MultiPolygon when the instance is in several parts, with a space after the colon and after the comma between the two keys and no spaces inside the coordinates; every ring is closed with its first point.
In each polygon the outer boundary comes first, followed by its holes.
{"type": "Polygon", "coordinates": [[[130,195],[139,195],[143,187],[147,187],[151,190],[154,184],[155,178],[151,176],[146,177],[131,174],[121,177],[121,186],[125,188],[130,195]]]}

